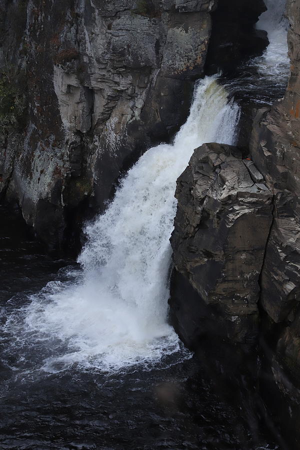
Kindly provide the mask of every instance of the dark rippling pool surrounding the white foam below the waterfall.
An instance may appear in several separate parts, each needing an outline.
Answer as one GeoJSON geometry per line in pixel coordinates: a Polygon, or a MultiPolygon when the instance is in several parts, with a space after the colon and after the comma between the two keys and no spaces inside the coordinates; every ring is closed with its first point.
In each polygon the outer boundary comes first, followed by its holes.
{"type": "MultiPolygon", "coordinates": [[[[12,307],[22,307],[28,293],[63,277],[59,269],[73,262],[45,255],[19,218],[4,207],[0,214],[3,324],[12,307]]],[[[280,448],[266,421],[244,401],[240,384],[218,381],[195,356],[182,360],[173,354],[148,370],[136,366],[105,374],[73,366],[45,374],[26,371],[22,355],[7,351],[7,342],[0,329],[3,450],[280,448]]],[[[32,350],[31,357],[38,354],[32,350]]]]}

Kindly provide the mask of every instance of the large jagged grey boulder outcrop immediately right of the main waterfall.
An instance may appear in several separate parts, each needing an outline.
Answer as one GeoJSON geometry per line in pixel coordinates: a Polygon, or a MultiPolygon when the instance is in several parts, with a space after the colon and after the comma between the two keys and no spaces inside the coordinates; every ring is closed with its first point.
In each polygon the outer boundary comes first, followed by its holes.
{"type": "Polygon", "coordinates": [[[273,194],[237,147],[209,143],[194,150],[175,196],[174,267],[198,294],[188,315],[182,313],[186,296],[171,295],[179,334],[189,344],[197,340],[207,329],[204,305],[210,305],[213,332],[248,343],[257,334],[258,278],[273,194]]]}

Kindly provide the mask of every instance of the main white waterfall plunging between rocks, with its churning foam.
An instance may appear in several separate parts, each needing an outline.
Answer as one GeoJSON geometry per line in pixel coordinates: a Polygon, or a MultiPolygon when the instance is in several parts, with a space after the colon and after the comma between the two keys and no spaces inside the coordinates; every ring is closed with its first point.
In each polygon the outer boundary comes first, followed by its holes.
{"type": "Polygon", "coordinates": [[[7,319],[24,360],[39,346],[36,368],[46,372],[74,363],[111,371],[187,354],[167,323],[176,179],[203,142],[233,144],[238,120],[239,107],[228,102],[217,77],[201,80],[174,143],[144,153],[106,212],[86,228],[83,272],[48,283],[7,319]]]}

